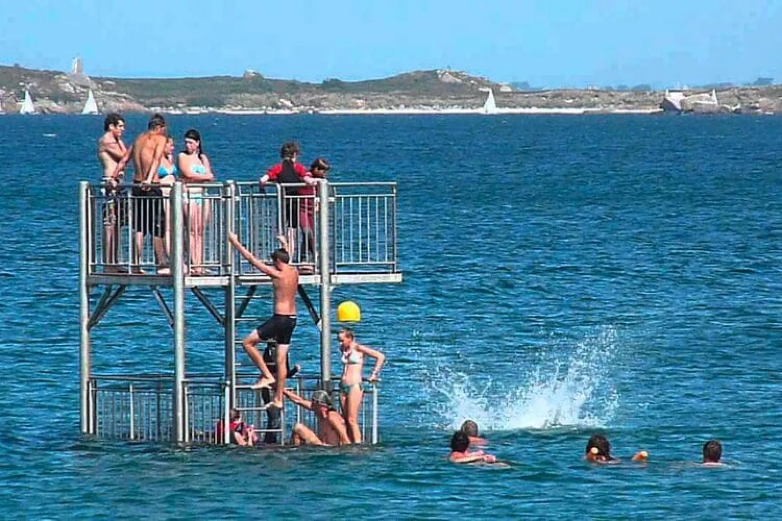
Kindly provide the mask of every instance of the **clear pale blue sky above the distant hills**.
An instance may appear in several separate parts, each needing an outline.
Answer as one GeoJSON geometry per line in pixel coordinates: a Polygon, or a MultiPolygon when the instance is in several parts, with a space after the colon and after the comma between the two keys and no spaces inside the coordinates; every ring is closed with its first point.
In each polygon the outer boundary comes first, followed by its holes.
{"type": "Polygon", "coordinates": [[[358,80],[451,66],[539,86],[782,81],[782,0],[0,0],[0,63],[358,80]]]}

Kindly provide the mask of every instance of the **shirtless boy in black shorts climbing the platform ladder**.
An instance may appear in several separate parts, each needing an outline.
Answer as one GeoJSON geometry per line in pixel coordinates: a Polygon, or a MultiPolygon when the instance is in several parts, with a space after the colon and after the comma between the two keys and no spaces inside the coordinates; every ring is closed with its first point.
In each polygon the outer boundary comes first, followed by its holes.
{"type": "Polygon", "coordinates": [[[253,360],[255,366],[260,369],[261,376],[253,384],[253,389],[271,387],[276,382],[274,399],[269,406],[282,409],[282,391],[285,389],[285,373],[287,371],[285,360],[288,356],[293,330],[296,328],[296,290],[299,287],[299,270],[289,264],[288,242],[285,241],[283,235],[277,237],[277,240],[282,244],[282,249],[274,250],[271,254],[273,266],[268,266],[256,259],[239,242],[239,237],[236,237],[236,234],[228,235],[228,240],[250,264],[271,277],[271,282],[274,285],[274,315],[262,323],[257,330],[247,335],[242,341],[242,347],[249,358],[253,360]],[[266,362],[264,362],[264,357],[260,355],[256,347],[259,342],[270,340],[277,341],[276,378],[271,374],[266,362]]]}

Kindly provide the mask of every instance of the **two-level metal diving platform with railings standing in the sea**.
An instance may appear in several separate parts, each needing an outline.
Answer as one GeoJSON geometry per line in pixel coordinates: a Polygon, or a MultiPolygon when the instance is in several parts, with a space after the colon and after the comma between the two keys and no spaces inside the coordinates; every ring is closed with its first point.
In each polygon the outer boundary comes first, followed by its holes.
{"type": "MultiPolygon", "coordinates": [[[[286,400],[280,424],[260,428],[266,424],[268,397],[249,385],[258,376],[254,366],[237,362],[237,348],[242,351],[237,326],[257,325],[271,316],[271,298],[259,291],[271,286],[271,279],[234,251],[229,234],[237,234],[262,262],[278,248],[278,235],[292,245],[291,263],[300,271],[300,300],[320,337],[320,373],[288,380],[287,387],[305,399],[326,389],[339,403],[339,378],[331,374],[332,288],[402,281],[396,183],[322,181],[313,187],[261,187],[178,181],[142,190],[82,181],[79,207],[81,432],[89,436],[224,444],[231,437],[231,409],[255,424],[260,437],[271,436],[278,444],[289,442],[295,423],[314,427],[311,412],[286,400]],[[93,359],[103,354],[100,345],[93,345],[91,332],[129,287],[148,288],[150,300],[170,325],[170,372],[92,370],[93,359]],[[315,290],[318,305],[308,293],[315,290]],[[188,293],[192,298],[185,298],[188,293]],[[220,373],[188,372],[188,302],[203,306],[221,327],[220,373]]],[[[307,324],[300,318],[297,331],[303,327],[307,324]]],[[[365,389],[361,430],[364,440],[375,444],[379,388],[366,382],[365,389]]]]}

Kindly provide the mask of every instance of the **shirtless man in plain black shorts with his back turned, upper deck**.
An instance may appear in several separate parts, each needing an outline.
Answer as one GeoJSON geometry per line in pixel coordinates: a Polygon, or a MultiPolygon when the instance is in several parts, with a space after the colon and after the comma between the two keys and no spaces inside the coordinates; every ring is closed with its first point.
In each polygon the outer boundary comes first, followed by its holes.
{"type": "MultiPolygon", "coordinates": [[[[149,119],[147,131],[138,136],[131,148],[135,165],[132,191],[133,229],[136,232],[134,264],[136,266],[141,264],[144,236],[152,234],[159,275],[170,273],[167,267],[165,244],[163,244],[163,238],[166,237],[166,216],[163,215],[163,192],[160,186],[151,185],[160,183],[157,170],[166,149],[166,142],[166,120],[163,120],[160,114],[155,114],[149,119]]],[[[140,268],[138,273],[143,273],[140,268]]]]}

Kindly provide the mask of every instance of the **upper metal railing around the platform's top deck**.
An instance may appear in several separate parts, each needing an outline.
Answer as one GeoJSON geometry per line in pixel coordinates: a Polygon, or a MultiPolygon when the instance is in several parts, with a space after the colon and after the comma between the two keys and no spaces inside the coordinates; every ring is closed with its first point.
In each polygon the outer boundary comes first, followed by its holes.
{"type": "MultiPolygon", "coordinates": [[[[302,273],[317,271],[320,199],[305,185],[224,183],[185,185],[183,233],[188,275],[257,273],[243,259],[228,259],[228,232],[258,259],[267,260],[284,235],[302,273]],[[296,189],[300,194],[284,194],[296,189]]],[[[396,184],[329,184],[331,273],[396,273],[396,184]]],[[[88,186],[88,274],[167,274],[173,191],[153,185],[88,186]]]]}

